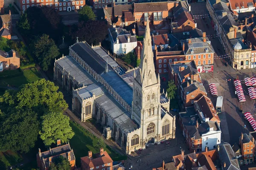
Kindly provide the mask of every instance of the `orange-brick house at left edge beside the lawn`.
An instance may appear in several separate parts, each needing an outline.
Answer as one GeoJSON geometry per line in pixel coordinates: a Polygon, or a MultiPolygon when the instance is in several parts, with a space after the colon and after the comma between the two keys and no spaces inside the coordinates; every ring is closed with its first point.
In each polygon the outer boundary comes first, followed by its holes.
{"type": "Polygon", "coordinates": [[[0,71],[20,68],[20,57],[14,50],[9,52],[0,50],[0,71]]]}

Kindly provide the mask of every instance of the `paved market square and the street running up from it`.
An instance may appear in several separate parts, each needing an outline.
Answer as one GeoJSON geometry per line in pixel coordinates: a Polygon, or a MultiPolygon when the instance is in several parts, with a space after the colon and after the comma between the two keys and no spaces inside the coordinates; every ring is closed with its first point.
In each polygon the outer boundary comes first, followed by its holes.
{"type": "MultiPolygon", "coordinates": [[[[207,14],[206,3],[191,3],[191,10],[193,15],[202,15],[207,14]],[[196,11],[196,12],[194,12],[196,11]]],[[[215,35],[216,32],[214,28],[212,28],[210,24],[210,20],[208,17],[196,18],[197,27],[201,29],[203,32],[206,32],[206,35],[215,35]]],[[[218,38],[210,38],[212,46],[215,50],[214,56],[224,55],[224,49],[221,46],[218,38]]],[[[228,59],[227,59],[228,61],[228,59]]],[[[235,89],[233,85],[233,81],[228,82],[227,79],[234,79],[236,76],[239,76],[239,79],[242,80],[245,77],[250,77],[256,74],[255,69],[246,69],[241,71],[234,70],[230,65],[226,67],[223,59],[219,59],[219,57],[215,57],[214,59],[214,72],[212,73],[204,73],[201,74],[202,79],[204,80],[206,90],[208,91],[208,97],[212,99],[212,102],[215,103],[217,98],[212,97],[209,92],[209,83],[216,83],[218,95],[224,96],[224,105],[223,112],[218,114],[221,119],[221,130],[222,130],[222,141],[229,142],[231,146],[235,143],[239,143],[239,136],[241,136],[242,132],[248,133],[248,131],[252,131],[252,127],[242,117],[242,113],[239,111],[239,100],[235,95],[235,89]],[[246,125],[246,128],[244,128],[246,125]]],[[[243,85],[244,95],[246,97],[245,105],[243,105],[243,111],[250,111],[255,114],[253,102],[251,102],[250,97],[246,94],[247,87],[243,85]]]]}

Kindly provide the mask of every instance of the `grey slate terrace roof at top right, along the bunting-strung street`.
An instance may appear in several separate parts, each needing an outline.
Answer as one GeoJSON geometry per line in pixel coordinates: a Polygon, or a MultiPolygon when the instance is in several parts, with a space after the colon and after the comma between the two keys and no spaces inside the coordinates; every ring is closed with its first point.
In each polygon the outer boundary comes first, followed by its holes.
{"type": "Polygon", "coordinates": [[[231,27],[238,26],[226,3],[216,3],[213,5],[213,8],[226,34],[229,33],[231,27]],[[222,12],[227,12],[227,15],[223,17],[222,12]]]}

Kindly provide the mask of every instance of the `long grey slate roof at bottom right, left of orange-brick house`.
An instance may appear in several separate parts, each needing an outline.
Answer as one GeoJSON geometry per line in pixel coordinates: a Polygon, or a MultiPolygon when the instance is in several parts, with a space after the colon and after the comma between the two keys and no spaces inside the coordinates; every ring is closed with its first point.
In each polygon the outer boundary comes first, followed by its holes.
{"type": "MultiPolygon", "coordinates": [[[[218,156],[223,165],[226,162],[226,167],[224,170],[240,170],[238,160],[236,159],[236,153],[232,150],[229,143],[218,144],[218,156]]],[[[223,166],[222,166],[223,167],[223,166]]]]}

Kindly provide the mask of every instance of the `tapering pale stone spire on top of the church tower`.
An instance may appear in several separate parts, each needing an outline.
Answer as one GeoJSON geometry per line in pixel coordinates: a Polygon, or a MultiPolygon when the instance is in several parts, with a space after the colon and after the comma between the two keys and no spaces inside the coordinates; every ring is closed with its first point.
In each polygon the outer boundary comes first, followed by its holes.
{"type": "Polygon", "coordinates": [[[140,71],[138,72],[135,79],[143,87],[158,83],[154,68],[149,21],[147,22],[145,29],[143,49],[140,55],[140,71]]]}

